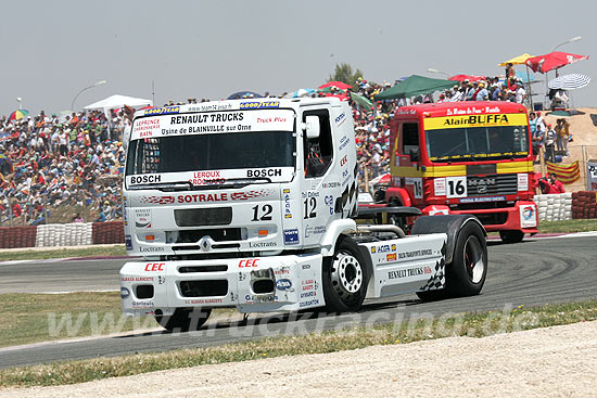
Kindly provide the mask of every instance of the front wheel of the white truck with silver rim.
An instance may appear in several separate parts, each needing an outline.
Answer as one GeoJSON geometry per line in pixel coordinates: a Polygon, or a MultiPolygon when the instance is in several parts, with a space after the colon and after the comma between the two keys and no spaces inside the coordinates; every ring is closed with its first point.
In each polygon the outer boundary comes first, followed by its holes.
{"type": "Polygon", "coordinates": [[[329,312],[356,311],[363,305],[369,270],[351,237],[340,235],[333,257],[323,259],[322,282],[329,312]]]}

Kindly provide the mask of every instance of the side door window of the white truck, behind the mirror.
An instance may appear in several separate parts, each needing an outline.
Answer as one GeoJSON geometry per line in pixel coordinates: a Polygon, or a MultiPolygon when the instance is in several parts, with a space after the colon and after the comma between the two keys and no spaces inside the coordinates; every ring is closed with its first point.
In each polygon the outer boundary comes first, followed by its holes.
{"type": "Polygon", "coordinates": [[[305,177],[320,177],[330,167],[333,155],[330,113],[328,110],[306,111],[303,113],[303,121],[307,116],[319,118],[319,137],[307,140],[306,136],[303,136],[305,177]]]}

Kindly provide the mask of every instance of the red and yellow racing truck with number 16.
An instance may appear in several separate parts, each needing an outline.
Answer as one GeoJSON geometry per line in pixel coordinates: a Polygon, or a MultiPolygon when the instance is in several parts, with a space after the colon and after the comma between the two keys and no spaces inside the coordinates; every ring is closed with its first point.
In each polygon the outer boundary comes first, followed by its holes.
{"type": "Polygon", "coordinates": [[[537,232],[526,108],[511,102],[399,107],[391,123],[391,187],[377,195],[423,215],[471,214],[507,243],[537,232]]]}

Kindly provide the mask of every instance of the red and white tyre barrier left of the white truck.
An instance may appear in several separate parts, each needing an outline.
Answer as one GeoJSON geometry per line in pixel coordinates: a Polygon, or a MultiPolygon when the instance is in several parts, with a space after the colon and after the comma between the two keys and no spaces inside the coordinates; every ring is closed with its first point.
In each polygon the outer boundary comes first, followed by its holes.
{"type": "Polygon", "coordinates": [[[125,243],[123,221],[0,227],[0,248],[125,243]]]}

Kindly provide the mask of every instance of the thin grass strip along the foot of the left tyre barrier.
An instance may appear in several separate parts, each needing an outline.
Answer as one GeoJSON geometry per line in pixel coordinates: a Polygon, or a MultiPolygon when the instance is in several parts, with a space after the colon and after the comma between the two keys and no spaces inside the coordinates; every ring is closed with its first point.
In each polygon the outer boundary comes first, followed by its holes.
{"type": "Polygon", "coordinates": [[[39,260],[46,258],[126,256],[125,245],[101,245],[85,248],[48,248],[43,251],[0,251],[0,261],[39,260]]]}

